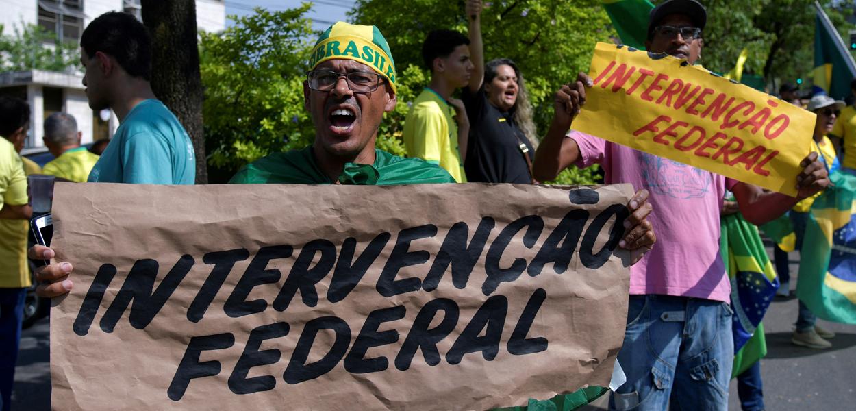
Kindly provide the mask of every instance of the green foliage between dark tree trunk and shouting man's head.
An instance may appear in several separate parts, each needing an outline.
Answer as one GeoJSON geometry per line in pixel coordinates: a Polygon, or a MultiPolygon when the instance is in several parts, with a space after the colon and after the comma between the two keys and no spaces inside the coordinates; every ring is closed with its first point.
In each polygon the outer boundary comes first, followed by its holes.
{"type": "Polygon", "coordinates": [[[303,107],[310,5],[256,9],[222,33],[201,33],[205,85],[205,143],[209,164],[225,176],[270,152],[312,144],[314,128],[303,107]]]}

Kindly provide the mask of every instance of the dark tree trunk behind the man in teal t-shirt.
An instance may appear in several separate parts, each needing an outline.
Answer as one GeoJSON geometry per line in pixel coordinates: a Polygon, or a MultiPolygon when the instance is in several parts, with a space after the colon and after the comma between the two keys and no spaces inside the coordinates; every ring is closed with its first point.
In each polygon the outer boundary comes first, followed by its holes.
{"type": "Polygon", "coordinates": [[[175,113],[193,141],[196,182],[208,182],[202,127],[202,80],[193,2],[143,0],[143,24],[152,34],[152,91],[175,113]]]}

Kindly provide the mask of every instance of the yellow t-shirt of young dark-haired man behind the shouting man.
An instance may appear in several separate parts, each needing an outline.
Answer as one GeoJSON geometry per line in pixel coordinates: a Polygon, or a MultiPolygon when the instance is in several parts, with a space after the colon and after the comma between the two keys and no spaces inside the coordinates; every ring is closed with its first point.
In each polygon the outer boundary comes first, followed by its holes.
{"type": "Polygon", "coordinates": [[[455,182],[467,182],[458,148],[455,108],[430,88],[419,93],[407,113],[404,146],[408,157],[437,164],[449,171],[455,182]]]}

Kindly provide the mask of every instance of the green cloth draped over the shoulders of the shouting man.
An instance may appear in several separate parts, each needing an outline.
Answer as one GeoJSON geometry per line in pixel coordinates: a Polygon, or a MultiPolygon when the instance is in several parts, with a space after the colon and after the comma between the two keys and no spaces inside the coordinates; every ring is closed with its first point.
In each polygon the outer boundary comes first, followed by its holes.
{"type": "MultiPolygon", "coordinates": [[[[302,150],[277,152],[265,158],[259,158],[247,164],[229,181],[232,183],[289,183],[289,184],[330,184],[330,178],[324,175],[312,146],[302,150]]],[[[342,184],[372,186],[391,186],[398,184],[431,184],[455,182],[446,170],[437,165],[428,164],[419,158],[401,158],[389,152],[375,149],[374,164],[345,164],[342,184]]]]}

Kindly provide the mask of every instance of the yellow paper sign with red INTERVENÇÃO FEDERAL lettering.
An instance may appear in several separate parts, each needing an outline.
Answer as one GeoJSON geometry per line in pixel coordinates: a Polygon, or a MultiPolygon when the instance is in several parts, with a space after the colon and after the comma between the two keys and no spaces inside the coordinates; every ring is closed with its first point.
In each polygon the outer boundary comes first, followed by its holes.
{"type": "Polygon", "coordinates": [[[598,43],[573,128],[796,196],[815,115],[686,61],[598,43]]]}

